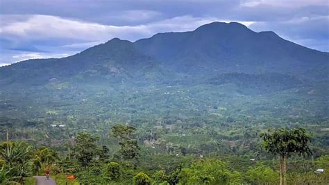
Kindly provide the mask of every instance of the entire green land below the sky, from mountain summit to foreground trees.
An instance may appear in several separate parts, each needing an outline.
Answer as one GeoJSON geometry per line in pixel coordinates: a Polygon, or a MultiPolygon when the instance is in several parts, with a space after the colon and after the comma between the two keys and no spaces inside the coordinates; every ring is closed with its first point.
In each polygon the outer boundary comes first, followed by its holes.
{"type": "Polygon", "coordinates": [[[214,22],[0,67],[0,183],[328,184],[328,61],[214,22]]]}

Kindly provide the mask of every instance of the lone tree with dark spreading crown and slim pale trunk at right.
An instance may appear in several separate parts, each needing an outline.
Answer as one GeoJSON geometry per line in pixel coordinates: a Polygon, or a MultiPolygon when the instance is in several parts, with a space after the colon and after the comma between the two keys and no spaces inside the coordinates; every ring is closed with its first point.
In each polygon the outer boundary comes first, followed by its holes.
{"type": "Polygon", "coordinates": [[[311,155],[308,147],[311,135],[304,128],[285,128],[269,130],[260,134],[263,139],[263,147],[267,152],[280,157],[280,184],[286,184],[286,163],[287,158],[294,155],[311,155]]]}

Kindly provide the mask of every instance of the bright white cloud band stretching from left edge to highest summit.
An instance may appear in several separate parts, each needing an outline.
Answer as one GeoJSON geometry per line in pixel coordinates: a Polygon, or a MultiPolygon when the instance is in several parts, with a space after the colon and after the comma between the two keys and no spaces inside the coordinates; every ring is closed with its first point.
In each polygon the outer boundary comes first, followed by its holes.
{"type": "MultiPolygon", "coordinates": [[[[111,26],[50,15],[22,16],[29,18],[21,21],[20,17],[15,15],[19,21],[3,26],[0,29],[0,34],[4,37],[18,37],[23,40],[60,38],[81,41],[106,41],[112,37],[136,40],[142,38],[141,36],[151,36],[158,32],[193,30],[211,21],[230,21],[213,17],[192,17],[186,15],[138,26],[111,26]]],[[[1,15],[1,19],[6,19],[6,17],[7,15],[1,15]]],[[[12,15],[9,15],[9,17],[12,17],[12,15]]],[[[251,21],[241,22],[246,24],[246,26],[252,23],[251,21]]]]}

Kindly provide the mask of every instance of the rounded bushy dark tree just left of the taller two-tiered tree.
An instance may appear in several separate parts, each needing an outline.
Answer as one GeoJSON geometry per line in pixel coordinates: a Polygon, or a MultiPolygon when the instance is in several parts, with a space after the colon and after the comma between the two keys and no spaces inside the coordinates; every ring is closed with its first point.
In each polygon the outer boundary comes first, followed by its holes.
{"type": "Polygon", "coordinates": [[[79,132],[76,139],[74,139],[76,142],[74,156],[78,159],[78,163],[81,166],[88,166],[90,161],[97,155],[98,148],[96,141],[98,140],[99,138],[97,136],[93,136],[87,132],[79,132]]]}

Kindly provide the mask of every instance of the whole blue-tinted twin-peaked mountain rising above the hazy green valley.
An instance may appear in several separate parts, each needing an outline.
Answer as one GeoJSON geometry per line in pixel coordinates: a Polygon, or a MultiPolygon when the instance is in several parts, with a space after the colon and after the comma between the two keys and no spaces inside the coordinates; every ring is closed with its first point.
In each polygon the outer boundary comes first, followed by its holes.
{"type": "Polygon", "coordinates": [[[271,31],[255,33],[239,23],[213,22],[190,32],[158,33],[136,42],[115,38],[67,58],[1,67],[0,82],[180,80],[182,75],[203,78],[222,73],[282,73],[326,80],[328,59],[328,53],[294,44],[271,31]]]}

